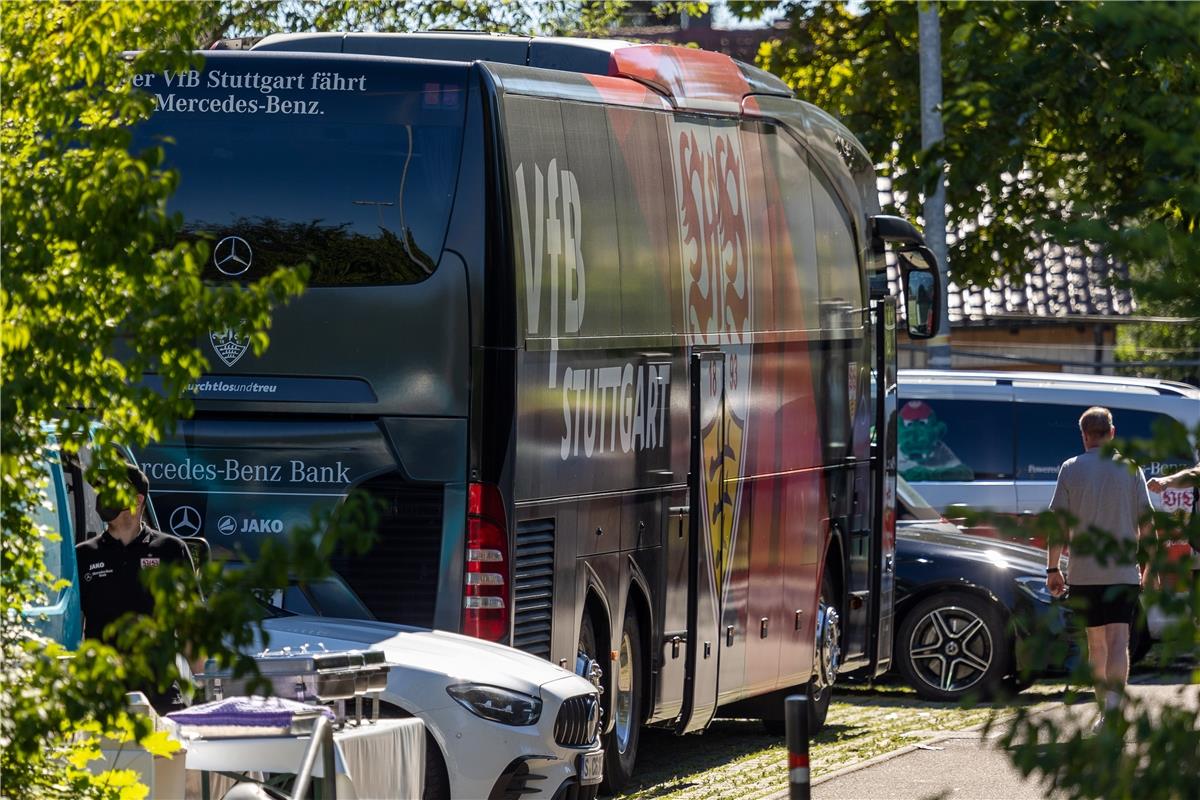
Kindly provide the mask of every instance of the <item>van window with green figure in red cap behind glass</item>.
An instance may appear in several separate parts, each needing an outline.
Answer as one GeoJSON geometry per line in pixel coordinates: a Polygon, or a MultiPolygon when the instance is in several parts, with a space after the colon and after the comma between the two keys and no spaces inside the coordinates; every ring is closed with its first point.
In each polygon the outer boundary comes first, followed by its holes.
{"type": "Polygon", "coordinates": [[[900,401],[900,475],[907,481],[988,481],[1013,476],[1013,404],[900,401]]]}

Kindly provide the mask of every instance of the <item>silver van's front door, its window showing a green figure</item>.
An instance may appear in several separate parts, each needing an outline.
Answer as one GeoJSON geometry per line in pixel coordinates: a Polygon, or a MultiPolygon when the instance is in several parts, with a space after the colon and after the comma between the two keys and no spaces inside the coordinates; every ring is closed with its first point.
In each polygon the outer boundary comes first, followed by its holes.
{"type": "Polygon", "coordinates": [[[942,512],[1015,513],[1013,387],[950,379],[901,383],[899,393],[900,475],[942,512]]]}

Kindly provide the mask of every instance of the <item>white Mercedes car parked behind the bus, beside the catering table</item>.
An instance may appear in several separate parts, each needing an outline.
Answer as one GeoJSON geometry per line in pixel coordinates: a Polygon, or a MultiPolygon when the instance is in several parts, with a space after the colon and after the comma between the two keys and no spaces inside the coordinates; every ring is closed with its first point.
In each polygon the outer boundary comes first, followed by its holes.
{"type": "Polygon", "coordinates": [[[310,614],[264,620],[272,650],[383,650],[385,709],[425,722],[426,800],[590,800],[604,765],[595,686],[456,633],[310,614]]]}

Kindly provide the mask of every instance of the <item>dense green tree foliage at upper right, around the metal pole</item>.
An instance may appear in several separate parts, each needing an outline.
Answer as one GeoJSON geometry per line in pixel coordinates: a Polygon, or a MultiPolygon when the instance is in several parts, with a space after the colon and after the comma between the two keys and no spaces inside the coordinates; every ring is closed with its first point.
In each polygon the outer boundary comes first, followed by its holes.
{"type": "MultiPolygon", "coordinates": [[[[1098,245],[1140,297],[1200,315],[1200,5],[943,2],[944,142],[920,142],[917,6],[774,4],[791,32],[762,64],[829,109],[920,215],[948,168],[954,275],[1025,272],[1030,247],[1098,245]]],[[[757,13],[757,4],[733,4],[757,13]]]]}

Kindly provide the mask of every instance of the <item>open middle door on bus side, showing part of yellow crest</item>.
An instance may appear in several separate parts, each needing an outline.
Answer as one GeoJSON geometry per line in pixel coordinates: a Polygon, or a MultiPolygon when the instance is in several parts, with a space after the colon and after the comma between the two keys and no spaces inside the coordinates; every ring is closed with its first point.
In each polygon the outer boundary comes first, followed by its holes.
{"type": "Polygon", "coordinates": [[[716,573],[726,515],[725,354],[696,353],[689,363],[691,458],[688,469],[688,656],[676,733],[702,730],[716,714],[721,652],[716,573]]]}

